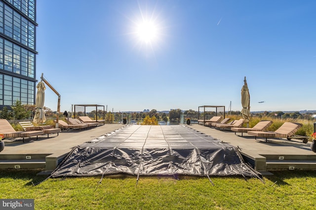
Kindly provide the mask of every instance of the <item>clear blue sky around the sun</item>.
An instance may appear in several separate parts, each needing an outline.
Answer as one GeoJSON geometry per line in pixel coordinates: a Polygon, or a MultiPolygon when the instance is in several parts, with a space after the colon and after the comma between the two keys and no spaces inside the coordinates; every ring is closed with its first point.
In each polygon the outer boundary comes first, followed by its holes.
{"type": "MultiPolygon", "coordinates": [[[[108,110],[316,110],[316,1],[38,0],[37,79],[108,110]],[[153,22],[155,39],[136,33],[153,22]],[[258,103],[264,101],[264,103],[258,103]]],[[[56,111],[48,87],[45,106],[56,111]]]]}

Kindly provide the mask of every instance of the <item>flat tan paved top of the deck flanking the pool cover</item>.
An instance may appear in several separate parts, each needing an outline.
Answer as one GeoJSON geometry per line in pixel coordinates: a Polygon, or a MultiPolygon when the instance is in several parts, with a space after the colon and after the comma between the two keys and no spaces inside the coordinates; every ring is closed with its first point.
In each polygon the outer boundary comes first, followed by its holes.
{"type": "MultiPolygon", "coordinates": [[[[87,130],[63,130],[56,134],[51,134],[49,138],[47,136],[40,136],[38,140],[36,138],[26,138],[25,143],[20,141],[6,142],[5,148],[0,154],[43,154],[43,153],[55,153],[55,152],[68,152],[71,148],[76,147],[84,142],[98,138],[106,133],[111,133],[121,127],[124,124],[105,124],[99,125],[96,128],[89,128],[87,130]],[[33,140],[30,141],[29,140],[33,140]]],[[[213,138],[220,139],[224,142],[228,142],[235,147],[239,147],[242,151],[248,151],[256,154],[310,154],[316,155],[310,149],[310,142],[304,144],[302,140],[288,141],[286,139],[265,139],[255,140],[253,136],[243,134],[243,137],[235,135],[234,132],[229,130],[217,130],[215,128],[209,128],[203,125],[191,124],[187,125],[195,130],[198,130],[213,138]]],[[[238,133],[237,133],[238,134],[238,133]]]]}

